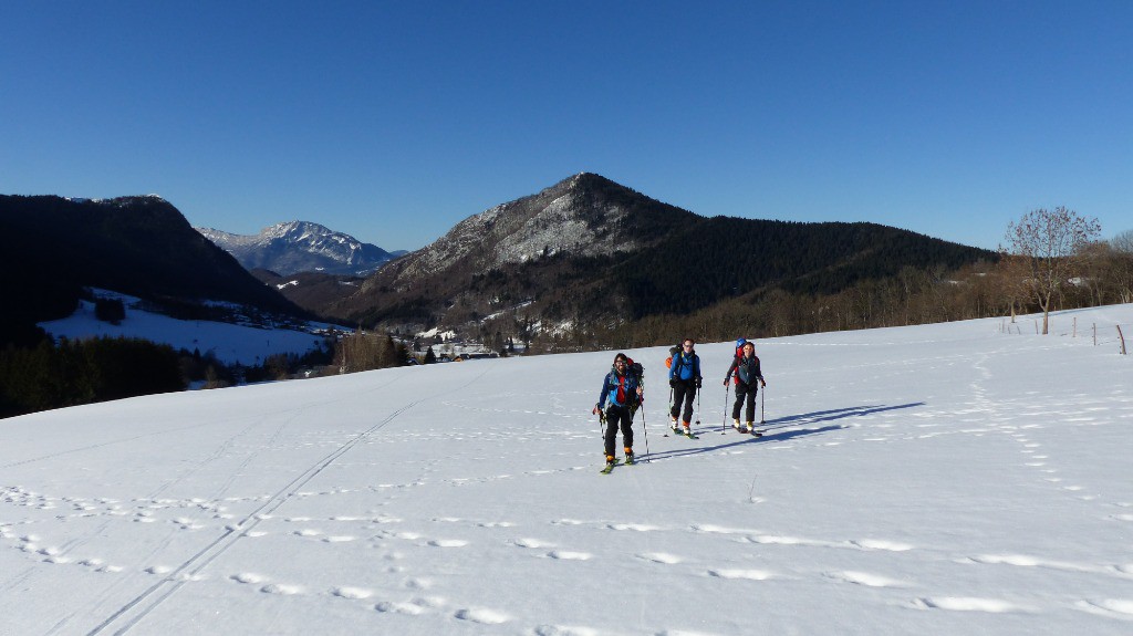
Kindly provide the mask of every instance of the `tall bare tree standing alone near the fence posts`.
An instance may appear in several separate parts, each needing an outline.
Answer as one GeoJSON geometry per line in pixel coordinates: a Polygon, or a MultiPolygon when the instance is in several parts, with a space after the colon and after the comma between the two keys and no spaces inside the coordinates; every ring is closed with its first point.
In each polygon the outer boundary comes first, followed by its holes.
{"type": "Polygon", "coordinates": [[[1042,333],[1049,333],[1051,299],[1081,269],[1085,246],[1097,240],[1101,225],[1065,206],[1031,210],[1007,225],[1006,255],[1026,267],[1026,284],[1042,308],[1042,333]]]}

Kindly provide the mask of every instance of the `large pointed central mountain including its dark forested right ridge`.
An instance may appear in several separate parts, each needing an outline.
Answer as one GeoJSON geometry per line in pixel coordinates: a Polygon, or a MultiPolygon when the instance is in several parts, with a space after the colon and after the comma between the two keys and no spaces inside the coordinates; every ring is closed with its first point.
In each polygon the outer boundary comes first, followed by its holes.
{"type": "Polygon", "coordinates": [[[587,330],[994,258],[869,223],[706,218],[582,173],[465,220],[331,312],[397,329],[471,329],[506,316],[587,330]]]}

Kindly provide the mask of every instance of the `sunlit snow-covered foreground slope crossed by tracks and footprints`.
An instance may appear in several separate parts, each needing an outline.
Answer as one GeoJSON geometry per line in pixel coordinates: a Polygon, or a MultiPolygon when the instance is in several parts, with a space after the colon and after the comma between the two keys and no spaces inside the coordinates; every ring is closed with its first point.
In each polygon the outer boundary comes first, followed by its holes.
{"type": "Polygon", "coordinates": [[[1133,356],[1085,330],[1133,306],[1073,316],[760,341],[761,439],[731,344],[699,440],[629,351],[649,462],[610,475],[611,352],[3,420],[0,633],[1131,634],[1133,356]]]}

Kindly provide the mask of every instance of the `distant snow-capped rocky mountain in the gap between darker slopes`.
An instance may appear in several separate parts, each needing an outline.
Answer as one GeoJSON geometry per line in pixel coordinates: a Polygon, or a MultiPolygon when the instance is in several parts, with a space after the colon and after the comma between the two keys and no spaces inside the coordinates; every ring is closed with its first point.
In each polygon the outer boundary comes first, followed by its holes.
{"type": "Polygon", "coordinates": [[[267,269],[281,276],[300,272],[366,276],[404,253],[387,252],[349,234],[306,221],[279,223],[254,235],[231,234],[211,227],[196,230],[236,257],[246,269],[267,269]]]}

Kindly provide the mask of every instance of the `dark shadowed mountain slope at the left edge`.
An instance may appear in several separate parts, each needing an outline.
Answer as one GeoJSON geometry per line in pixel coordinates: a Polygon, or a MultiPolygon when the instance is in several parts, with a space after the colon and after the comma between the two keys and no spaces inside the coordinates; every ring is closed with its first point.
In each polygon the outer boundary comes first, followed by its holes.
{"type": "Polygon", "coordinates": [[[0,196],[0,270],[11,281],[5,321],[12,328],[67,316],[82,287],[303,313],[156,196],[0,196]]]}

